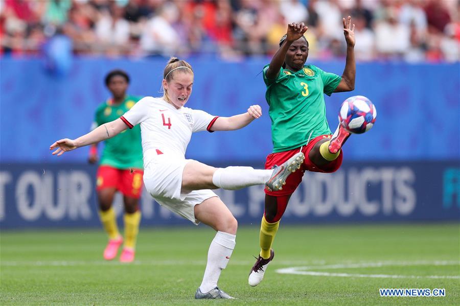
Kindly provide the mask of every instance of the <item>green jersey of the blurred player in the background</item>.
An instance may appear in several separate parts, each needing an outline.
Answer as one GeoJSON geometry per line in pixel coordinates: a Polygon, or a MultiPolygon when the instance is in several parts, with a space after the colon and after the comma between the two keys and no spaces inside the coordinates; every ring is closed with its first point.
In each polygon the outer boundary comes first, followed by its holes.
{"type": "MultiPolygon", "coordinates": [[[[126,96],[119,105],[114,105],[112,99],[108,99],[96,110],[94,128],[118,119],[140,99],[141,97],[126,96]]],[[[105,140],[100,164],[117,169],[143,169],[140,125],[105,140]]]]}

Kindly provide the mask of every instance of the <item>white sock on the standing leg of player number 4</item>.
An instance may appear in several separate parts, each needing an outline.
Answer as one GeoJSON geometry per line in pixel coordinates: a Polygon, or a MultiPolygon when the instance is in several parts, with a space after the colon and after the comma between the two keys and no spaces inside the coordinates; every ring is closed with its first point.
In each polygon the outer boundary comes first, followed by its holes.
{"type": "Polygon", "coordinates": [[[220,272],[227,266],[233,249],[235,248],[236,235],[218,231],[208,251],[208,264],[204,270],[203,281],[200,285],[202,293],[209,292],[217,287],[220,272]]]}

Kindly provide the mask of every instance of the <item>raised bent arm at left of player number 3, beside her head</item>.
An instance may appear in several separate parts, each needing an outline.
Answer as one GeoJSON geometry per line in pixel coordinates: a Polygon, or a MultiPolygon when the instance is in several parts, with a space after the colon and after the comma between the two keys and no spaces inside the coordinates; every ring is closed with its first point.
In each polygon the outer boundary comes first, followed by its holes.
{"type": "Polygon", "coordinates": [[[289,23],[287,30],[287,37],[278,49],[277,53],[273,55],[270,65],[268,66],[267,73],[265,76],[267,79],[276,79],[280,74],[280,69],[283,66],[286,53],[289,49],[291,43],[301,38],[302,35],[308,30],[308,27],[305,26],[305,23],[289,23]]]}

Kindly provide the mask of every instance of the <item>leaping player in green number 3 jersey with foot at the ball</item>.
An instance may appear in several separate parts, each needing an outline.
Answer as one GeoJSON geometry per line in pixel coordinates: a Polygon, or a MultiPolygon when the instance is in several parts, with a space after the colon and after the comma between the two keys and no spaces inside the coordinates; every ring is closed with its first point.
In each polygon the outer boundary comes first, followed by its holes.
{"type": "Polygon", "coordinates": [[[265,187],[265,212],[259,240],[261,251],[249,274],[250,286],[257,286],[262,281],[273,259],[271,245],[280,219],[304,172],[336,171],[342,163],[340,148],[350,136],[340,124],[331,135],[326,121],[324,93],[330,96],[333,92],[352,91],[355,87],[355,25],[352,25],[350,16],[343,18],[347,59],[342,77],[305,65],[308,41],[304,33],[307,29],[303,22],[290,23],[287,34],[280,41],[280,49],[263,70],[273,141],[273,153],[267,156],[265,169],[281,164],[300,151],[305,154],[305,160],[302,171],[289,176],[282,190],[265,187]]]}

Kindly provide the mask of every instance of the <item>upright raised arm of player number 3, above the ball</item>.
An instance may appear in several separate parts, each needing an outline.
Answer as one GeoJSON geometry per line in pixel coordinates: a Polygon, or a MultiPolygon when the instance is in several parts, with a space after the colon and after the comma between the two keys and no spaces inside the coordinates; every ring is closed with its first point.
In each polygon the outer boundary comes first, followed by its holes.
{"type": "Polygon", "coordinates": [[[355,62],[355,25],[351,23],[351,17],[343,18],[343,34],[347,41],[347,59],[343,69],[342,80],[334,92],[352,91],[355,89],[356,62],[355,62]]]}

